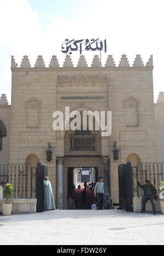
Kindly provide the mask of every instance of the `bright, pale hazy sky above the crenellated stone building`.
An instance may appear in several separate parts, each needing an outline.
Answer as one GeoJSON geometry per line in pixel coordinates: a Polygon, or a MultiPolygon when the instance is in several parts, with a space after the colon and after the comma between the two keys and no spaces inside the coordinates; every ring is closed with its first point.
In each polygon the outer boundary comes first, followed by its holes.
{"type": "MultiPolygon", "coordinates": [[[[0,95],[10,102],[10,58],[20,65],[28,55],[34,66],[43,55],[46,66],[52,55],[63,65],[61,44],[66,39],[107,39],[107,54],[118,66],[126,54],[132,66],[137,54],[144,64],[154,55],[155,101],[163,86],[163,0],[0,0],[0,95]]],[[[94,53],[95,54],[95,53],[94,53]]],[[[85,53],[91,65],[93,54],[85,53]]],[[[79,54],[72,60],[77,65],[79,54]]]]}

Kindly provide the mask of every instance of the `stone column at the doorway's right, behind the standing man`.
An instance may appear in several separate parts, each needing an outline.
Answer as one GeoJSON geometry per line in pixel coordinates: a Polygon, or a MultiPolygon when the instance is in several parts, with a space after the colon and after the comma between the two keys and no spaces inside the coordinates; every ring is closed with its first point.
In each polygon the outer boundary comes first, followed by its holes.
{"type": "Polygon", "coordinates": [[[103,156],[103,178],[104,178],[104,193],[108,193],[110,195],[109,188],[109,156],[103,156]]]}

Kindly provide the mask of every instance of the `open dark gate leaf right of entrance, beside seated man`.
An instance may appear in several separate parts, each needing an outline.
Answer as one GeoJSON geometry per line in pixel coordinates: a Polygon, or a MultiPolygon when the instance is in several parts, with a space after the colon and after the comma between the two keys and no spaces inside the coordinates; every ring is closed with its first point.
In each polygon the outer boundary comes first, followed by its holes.
{"type": "Polygon", "coordinates": [[[131,162],[119,165],[119,203],[120,208],[133,212],[131,162]]]}

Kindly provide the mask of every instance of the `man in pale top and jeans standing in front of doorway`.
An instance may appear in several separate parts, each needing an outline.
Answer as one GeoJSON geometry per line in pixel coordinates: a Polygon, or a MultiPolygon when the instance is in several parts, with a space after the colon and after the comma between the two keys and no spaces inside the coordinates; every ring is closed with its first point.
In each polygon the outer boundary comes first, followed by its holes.
{"type": "Polygon", "coordinates": [[[99,182],[95,186],[95,197],[97,197],[96,206],[99,206],[99,210],[102,210],[104,200],[104,183],[103,177],[99,177],[99,182]]]}

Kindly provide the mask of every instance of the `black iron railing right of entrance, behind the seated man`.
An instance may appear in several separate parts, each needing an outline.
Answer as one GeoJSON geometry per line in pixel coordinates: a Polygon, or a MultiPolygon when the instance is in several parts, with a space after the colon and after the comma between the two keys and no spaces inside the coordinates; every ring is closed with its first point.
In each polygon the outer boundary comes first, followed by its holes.
{"type": "Polygon", "coordinates": [[[145,179],[153,183],[160,194],[160,185],[164,181],[164,162],[140,162],[137,167],[132,167],[133,197],[142,197],[143,191],[139,189],[137,179],[144,184],[145,179]]]}

